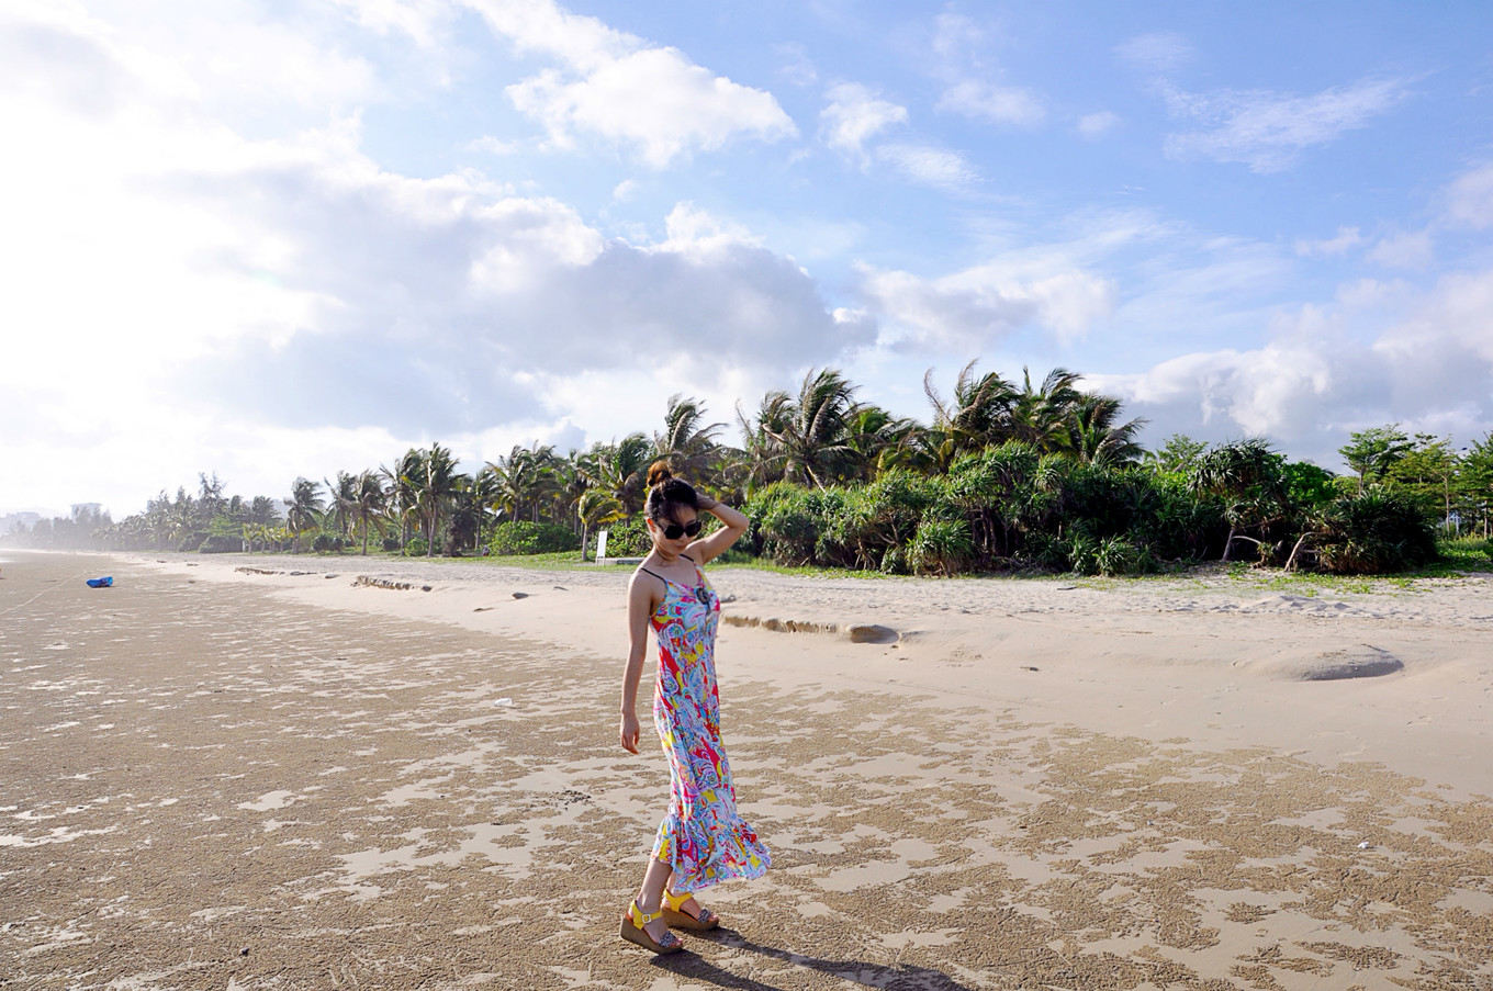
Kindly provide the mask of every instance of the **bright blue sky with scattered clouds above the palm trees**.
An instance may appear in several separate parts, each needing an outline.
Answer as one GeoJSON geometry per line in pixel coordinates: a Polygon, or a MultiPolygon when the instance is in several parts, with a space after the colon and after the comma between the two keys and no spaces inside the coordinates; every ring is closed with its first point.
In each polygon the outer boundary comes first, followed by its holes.
{"type": "MultiPolygon", "coordinates": [[[[0,510],[1065,366],[1493,428],[1486,3],[0,0],[0,510]]],[[[735,431],[733,431],[735,433],[735,431]]]]}

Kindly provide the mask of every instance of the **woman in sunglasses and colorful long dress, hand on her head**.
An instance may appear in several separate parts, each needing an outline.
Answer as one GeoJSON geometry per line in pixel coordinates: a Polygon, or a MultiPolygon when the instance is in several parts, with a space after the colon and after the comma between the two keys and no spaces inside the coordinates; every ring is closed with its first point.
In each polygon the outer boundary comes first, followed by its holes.
{"type": "Polygon", "coordinates": [[[654,725],[669,755],[669,813],[658,827],[642,888],[623,915],[621,936],[655,954],[675,954],[684,942],[669,927],[709,930],[720,924],[693,892],[729,878],[760,878],[772,858],[736,813],[715,690],[721,600],[700,570],[746,531],[746,516],[696,493],[663,461],[648,469],[646,516],[652,552],[627,588],[621,740],[629,752],[638,752],[638,681],[652,624],[658,640],[654,725]],[[696,540],[700,513],[723,525],[696,540]]]}

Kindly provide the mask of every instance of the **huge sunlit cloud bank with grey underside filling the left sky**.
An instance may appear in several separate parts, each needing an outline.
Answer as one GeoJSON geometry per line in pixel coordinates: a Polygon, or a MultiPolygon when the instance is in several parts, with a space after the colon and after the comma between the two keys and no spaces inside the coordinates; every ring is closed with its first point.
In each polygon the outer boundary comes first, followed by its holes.
{"type": "MultiPolygon", "coordinates": [[[[0,452],[57,482],[0,478],[0,504],[100,498],[122,515],[199,469],[282,494],[296,473],[433,439],[476,457],[505,431],[606,436],[618,407],[560,422],[545,376],[635,382],[682,354],[703,387],[873,340],[794,260],[687,206],[667,242],[629,243],[478,172],[382,169],[355,112],[325,124],[381,93],[339,82],[331,42],[291,60],[330,67],[322,124],[251,139],[225,116],[260,99],[279,124],[299,103],[275,88],[230,101],[215,87],[231,73],[199,75],[239,39],[190,34],[206,48],[178,58],[164,34],[36,10],[0,12],[0,49],[45,54],[45,37],[67,55],[0,75],[0,452]]],[[[251,48],[276,37],[251,28],[251,48]]]]}

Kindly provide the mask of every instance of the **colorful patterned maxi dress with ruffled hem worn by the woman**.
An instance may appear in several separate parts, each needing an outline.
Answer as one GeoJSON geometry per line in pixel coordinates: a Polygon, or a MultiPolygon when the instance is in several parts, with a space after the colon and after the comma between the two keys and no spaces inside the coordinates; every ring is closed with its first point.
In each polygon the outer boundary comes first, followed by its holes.
{"type": "Polygon", "coordinates": [[[669,815],[658,827],[652,855],[673,867],[669,888],[681,894],[729,878],[760,878],[772,858],[736,813],[732,767],[721,746],[715,687],[720,595],[699,566],[699,585],[648,573],[666,585],[652,615],[658,640],[654,725],[669,755],[670,788],[669,815]]]}

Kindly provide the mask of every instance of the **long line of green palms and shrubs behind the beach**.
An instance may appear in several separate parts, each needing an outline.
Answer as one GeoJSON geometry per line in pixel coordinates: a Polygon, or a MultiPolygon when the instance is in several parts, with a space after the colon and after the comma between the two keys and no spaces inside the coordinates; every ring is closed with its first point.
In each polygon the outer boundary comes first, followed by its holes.
{"type": "MultiPolygon", "coordinates": [[[[835,369],[745,410],[739,446],[694,398],[672,396],[661,430],[558,454],[518,445],[463,473],[449,448],[378,467],[297,478],[281,498],[225,495],[216,475],[87,542],[119,549],[521,554],[645,551],[648,464],[744,506],[744,551],[784,564],[951,575],[1045,569],[1136,573],[1171,563],[1256,560],[1383,572],[1426,564],[1438,534],[1490,528],[1493,434],[1460,451],[1399,425],[1351,434],[1353,475],[1288,461],[1265,439],[1138,443],[1142,419],[1054,369],[1020,379],[966,366],[947,391],[924,376],[927,422],[861,401],[835,369]]],[[[46,522],[46,521],[43,521],[46,522]]],[[[73,521],[12,542],[63,545],[73,521]]],[[[72,525],[81,540],[87,527],[72,525]]],[[[76,545],[76,543],[75,543],[76,545]]]]}

